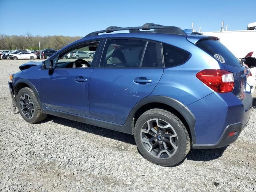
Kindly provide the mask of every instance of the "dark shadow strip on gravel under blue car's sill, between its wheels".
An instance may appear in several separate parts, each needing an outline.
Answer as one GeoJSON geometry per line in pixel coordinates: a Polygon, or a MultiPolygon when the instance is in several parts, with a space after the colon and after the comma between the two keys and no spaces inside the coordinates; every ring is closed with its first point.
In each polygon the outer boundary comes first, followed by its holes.
{"type": "Polygon", "coordinates": [[[128,144],[136,145],[134,136],[130,135],[130,134],[121,133],[118,131],[109,130],[109,129],[105,129],[105,128],[101,128],[101,127],[97,127],[97,126],[92,126],[89,124],[80,123],[80,122],[76,122],[76,121],[72,121],[72,120],[68,120],[68,119],[60,118],[60,117],[56,117],[56,116],[51,116],[51,115],[48,115],[46,120],[44,120],[40,123],[44,123],[44,122],[48,122],[48,121],[52,121],[57,124],[76,128],[78,130],[86,131],[86,132],[89,132],[92,134],[97,134],[97,135],[107,137],[110,139],[114,139],[114,140],[118,140],[121,142],[126,142],[128,144]]]}

